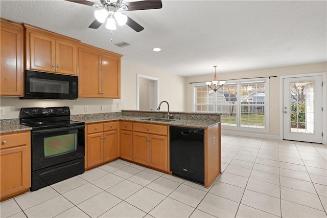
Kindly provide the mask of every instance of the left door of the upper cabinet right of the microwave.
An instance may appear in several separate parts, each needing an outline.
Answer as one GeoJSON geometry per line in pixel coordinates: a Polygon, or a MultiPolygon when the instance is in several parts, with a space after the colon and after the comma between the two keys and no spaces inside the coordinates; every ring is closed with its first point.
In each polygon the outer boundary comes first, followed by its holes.
{"type": "Polygon", "coordinates": [[[78,49],[78,96],[100,98],[101,54],[78,49]]]}

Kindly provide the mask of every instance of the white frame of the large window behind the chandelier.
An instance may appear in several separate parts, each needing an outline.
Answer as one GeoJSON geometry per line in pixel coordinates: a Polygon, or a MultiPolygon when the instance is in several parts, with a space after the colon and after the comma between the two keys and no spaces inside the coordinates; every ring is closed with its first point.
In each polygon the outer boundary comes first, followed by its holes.
{"type": "MultiPolygon", "coordinates": [[[[236,101],[236,107],[237,107],[237,125],[236,126],[227,126],[227,125],[221,125],[224,129],[233,129],[233,130],[244,130],[248,132],[260,132],[260,133],[269,133],[269,77],[264,78],[258,78],[258,79],[238,79],[238,80],[228,80],[226,81],[225,85],[228,84],[237,84],[237,99],[241,99],[241,84],[242,83],[250,83],[250,82],[265,82],[265,127],[264,128],[252,128],[252,127],[245,127],[241,126],[241,101],[236,101]]],[[[197,86],[206,86],[205,82],[201,83],[193,83],[193,92],[192,92],[192,98],[193,98],[193,112],[196,112],[196,87],[197,86]]],[[[214,102],[215,110],[217,110],[216,101],[214,102]]],[[[217,112],[207,112],[207,113],[217,113],[217,112]]]]}

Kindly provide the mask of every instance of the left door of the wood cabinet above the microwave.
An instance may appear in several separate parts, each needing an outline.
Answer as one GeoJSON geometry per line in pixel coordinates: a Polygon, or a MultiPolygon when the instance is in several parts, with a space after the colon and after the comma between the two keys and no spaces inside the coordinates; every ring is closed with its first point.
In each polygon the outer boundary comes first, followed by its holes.
{"type": "Polygon", "coordinates": [[[56,72],[55,39],[30,33],[30,69],[56,72]]]}

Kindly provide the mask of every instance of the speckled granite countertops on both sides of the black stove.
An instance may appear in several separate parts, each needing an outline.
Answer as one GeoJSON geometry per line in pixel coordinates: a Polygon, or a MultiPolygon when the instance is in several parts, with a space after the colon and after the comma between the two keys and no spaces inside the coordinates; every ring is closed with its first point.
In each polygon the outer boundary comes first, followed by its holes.
{"type": "MultiPolygon", "coordinates": [[[[123,112],[124,113],[124,112],[123,112]]],[[[165,124],[174,126],[186,126],[195,128],[207,128],[219,123],[219,119],[215,118],[217,114],[194,114],[194,113],[175,113],[174,121],[157,121],[146,120],[149,118],[165,118],[167,113],[149,113],[149,112],[131,112],[126,111],[126,115],[122,113],[103,113],[103,114],[84,114],[71,115],[71,120],[89,123],[109,122],[109,121],[130,121],[144,122],[152,124],[165,124]],[[131,114],[132,113],[132,114],[131,114]]],[[[19,132],[31,130],[31,127],[20,125],[18,119],[2,120],[0,133],[19,132]]]]}

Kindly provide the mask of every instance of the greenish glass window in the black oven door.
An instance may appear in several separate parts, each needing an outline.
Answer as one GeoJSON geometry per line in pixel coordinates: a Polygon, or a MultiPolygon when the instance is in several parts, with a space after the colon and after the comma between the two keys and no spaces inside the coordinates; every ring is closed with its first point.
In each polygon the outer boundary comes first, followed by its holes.
{"type": "Polygon", "coordinates": [[[76,151],[77,133],[44,138],[44,157],[50,158],[76,151]]]}

